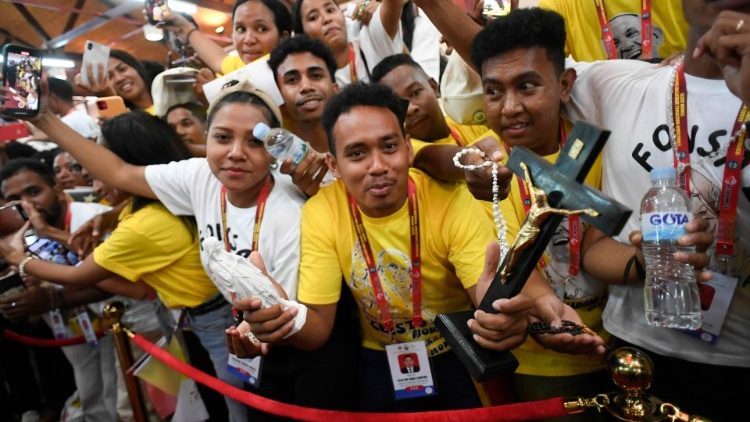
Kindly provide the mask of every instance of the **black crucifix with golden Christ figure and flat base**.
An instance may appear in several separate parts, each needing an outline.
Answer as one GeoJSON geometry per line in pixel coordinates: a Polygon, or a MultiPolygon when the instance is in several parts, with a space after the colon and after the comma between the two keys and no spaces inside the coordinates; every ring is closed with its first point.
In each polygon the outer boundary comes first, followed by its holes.
{"type": "MultiPolygon", "coordinates": [[[[576,123],[554,165],[524,147],[513,148],[506,166],[524,176],[532,207],[479,309],[497,313],[495,300],[521,291],[564,215],[579,214],[610,236],[622,230],[631,210],[582,184],[608,137],[609,131],[576,123]]],[[[510,352],[487,350],[474,341],[466,324],[473,314],[440,314],[435,324],[476,380],[514,371],[518,362],[510,352]]]]}

